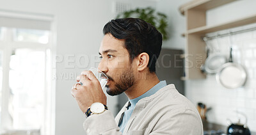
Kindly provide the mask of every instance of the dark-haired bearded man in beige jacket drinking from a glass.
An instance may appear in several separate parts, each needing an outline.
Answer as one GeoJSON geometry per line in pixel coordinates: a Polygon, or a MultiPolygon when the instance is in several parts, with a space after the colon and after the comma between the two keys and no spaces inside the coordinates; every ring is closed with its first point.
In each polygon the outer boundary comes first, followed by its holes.
{"type": "MultiPolygon", "coordinates": [[[[129,102],[116,115],[106,107],[106,95],[90,71],[77,77],[72,95],[86,114],[87,134],[203,134],[195,106],[180,95],[174,84],[156,75],[162,35],[141,19],[116,19],[103,29],[99,70],[108,77],[109,95],[122,92],[129,102]]],[[[171,74],[170,74],[171,75],[171,74]]]]}

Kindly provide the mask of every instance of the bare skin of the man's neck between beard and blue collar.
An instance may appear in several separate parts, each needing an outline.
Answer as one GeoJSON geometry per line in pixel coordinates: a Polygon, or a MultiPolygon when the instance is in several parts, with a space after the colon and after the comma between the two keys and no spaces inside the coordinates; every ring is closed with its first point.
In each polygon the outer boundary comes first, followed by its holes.
{"type": "Polygon", "coordinates": [[[129,90],[126,90],[125,95],[129,99],[135,99],[153,88],[157,83],[159,83],[159,79],[156,74],[147,74],[144,79],[138,79],[129,90]]]}

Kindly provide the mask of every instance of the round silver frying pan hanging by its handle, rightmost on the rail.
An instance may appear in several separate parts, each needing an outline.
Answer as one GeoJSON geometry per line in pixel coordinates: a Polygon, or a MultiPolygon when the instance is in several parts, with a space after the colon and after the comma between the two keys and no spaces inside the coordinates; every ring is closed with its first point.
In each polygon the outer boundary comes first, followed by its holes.
{"type": "Polygon", "coordinates": [[[221,66],[220,72],[216,74],[216,80],[225,88],[239,88],[246,82],[246,71],[242,65],[233,63],[232,47],[230,47],[230,60],[221,66]]]}

